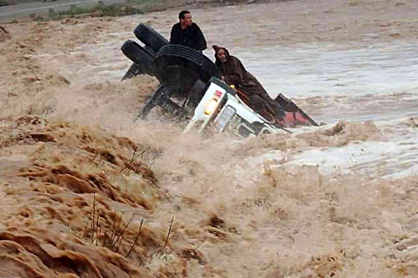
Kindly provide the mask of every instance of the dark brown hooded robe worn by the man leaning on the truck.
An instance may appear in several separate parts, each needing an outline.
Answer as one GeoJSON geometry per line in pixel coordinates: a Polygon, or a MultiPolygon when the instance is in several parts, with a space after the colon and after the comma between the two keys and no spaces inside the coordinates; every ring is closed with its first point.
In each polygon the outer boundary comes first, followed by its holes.
{"type": "Polygon", "coordinates": [[[284,112],[278,102],[270,97],[257,78],[248,72],[238,58],[229,55],[224,47],[213,46],[215,51],[216,66],[219,68],[224,80],[234,85],[243,93],[242,100],[253,110],[261,114],[267,120],[282,118],[284,112]],[[219,49],[225,51],[226,62],[222,63],[216,56],[219,49]]]}

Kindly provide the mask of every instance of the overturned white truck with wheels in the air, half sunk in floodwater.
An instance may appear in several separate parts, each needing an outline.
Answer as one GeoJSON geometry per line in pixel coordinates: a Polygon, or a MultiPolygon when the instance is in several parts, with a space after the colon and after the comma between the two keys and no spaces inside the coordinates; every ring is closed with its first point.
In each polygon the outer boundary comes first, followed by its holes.
{"type": "MultiPolygon", "coordinates": [[[[141,109],[139,118],[159,106],[188,121],[184,132],[197,130],[227,132],[238,138],[265,133],[286,133],[285,126],[266,119],[248,107],[242,92],[226,84],[215,64],[204,54],[182,45],[170,44],[150,26],[140,23],[134,30],[136,38],[123,43],[121,51],[132,61],[123,79],[138,74],[155,76],[160,84],[141,109]]],[[[286,113],[286,123],[314,125],[317,123],[295,103],[279,94],[286,113]]]]}

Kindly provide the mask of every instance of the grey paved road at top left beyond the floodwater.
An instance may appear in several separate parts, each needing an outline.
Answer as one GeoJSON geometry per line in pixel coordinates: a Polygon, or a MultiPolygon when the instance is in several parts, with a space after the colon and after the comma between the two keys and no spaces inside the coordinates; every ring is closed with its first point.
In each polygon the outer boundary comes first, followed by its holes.
{"type": "MultiPolygon", "coordinates": [[[[29,17],[30,14],[47,15],[50,8],[55,12],[69,10],[71,5],[90,7],[97,5],[99,0],[57,0],[37,1],[0,7],[0,22],[10,22],[14,18],[29,17]]],[[[124,3],[126,0],[103,0],[105,5],[124,3]]]]}

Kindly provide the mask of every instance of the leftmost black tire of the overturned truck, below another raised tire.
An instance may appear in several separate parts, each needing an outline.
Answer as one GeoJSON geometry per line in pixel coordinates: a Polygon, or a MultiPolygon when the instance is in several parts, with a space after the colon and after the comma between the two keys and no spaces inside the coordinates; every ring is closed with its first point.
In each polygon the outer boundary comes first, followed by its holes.
{"type": "Polygon", "coordinates": [[[127,40],[120,48],[122,53],[137,65],[137,72],[152,75],[153,57],[138,43],[127,40]]]}

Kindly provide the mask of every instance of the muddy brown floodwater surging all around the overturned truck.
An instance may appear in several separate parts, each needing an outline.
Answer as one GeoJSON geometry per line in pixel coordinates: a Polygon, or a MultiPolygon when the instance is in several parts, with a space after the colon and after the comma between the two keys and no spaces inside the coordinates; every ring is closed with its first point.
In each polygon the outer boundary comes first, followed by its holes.
{"type": "MultiPolygon", "coordinates": [[[[99,269],[103,277],[122,277],[115,269],[133,277],[416,277],[417,1],[193,9],[209,46],[227,47],[272,96],[283,93],[325,123],[245,140],[182,135],[158,111],[136,121],[158,82],[149,76],[120,82],[131,65],[120,46],[134,39],[139,22],[167,37],[177,12],[6,26],[0,217],[7,221],[0,228],[7,233],[0,232],[0,243],[13,241],[24,254],[14,264],[12,255],[0,257],[6,274],[27,271],[20,261],[33,273],[80,274],[52,259],[67,254],[76,261],[83,253],[94,259],[86,264],[90,274],[99,269]],[[28,114],[40,120],[22,120],[28,114]],[[27,134],[42,140],[28,141],[27,134]],[[129,140],[149,147],[140,158],[149,168],[122,175],[120,165],[134,157],[129,140]],[[125,254],[135,230],[121,244],[123,258],[80,239],[88,210],[75,200],[92,207],[92,191],[82,189],[97,180],[105,187],[97,191],[100,221],[113,209],[145,218],[134,256],[125,254]],[[34,199],[38,191],[61,204],[34,199]],[[29,201],[23,213],[17,203],[29,201]],[[50,207],[71,222],[50,216],[50,207]],[[22,219],[34,245],[17,236],[22,219]]],[[[210,47],[205,54],[213,59],[210,47]]]]}

